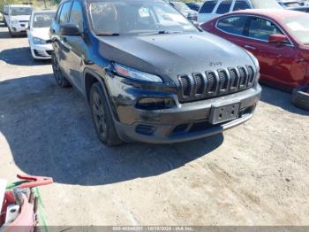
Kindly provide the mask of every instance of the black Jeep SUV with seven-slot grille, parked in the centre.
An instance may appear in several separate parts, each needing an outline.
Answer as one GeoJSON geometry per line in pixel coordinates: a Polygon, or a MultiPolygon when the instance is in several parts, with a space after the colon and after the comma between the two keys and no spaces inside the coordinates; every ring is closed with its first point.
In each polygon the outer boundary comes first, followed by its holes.
{"type": "Polygon", "coordinates": [[[50,27],[57,84],[87,97],[103,143],[177,143],[252,117],[251,53],[162,0],[64,0],[50,27]]]}

